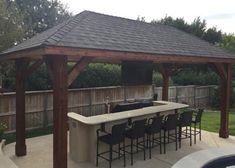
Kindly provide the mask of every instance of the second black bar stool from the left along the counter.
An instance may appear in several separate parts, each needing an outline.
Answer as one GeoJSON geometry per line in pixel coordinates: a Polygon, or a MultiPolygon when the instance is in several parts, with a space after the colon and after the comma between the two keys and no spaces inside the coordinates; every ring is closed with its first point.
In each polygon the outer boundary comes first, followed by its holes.
{"type": "Polygon", "coordinates": [[[131,151],[126,151],[131,155],[131,165],[133,165],[133,146],[136,147],[136,152],[140,150],[144,151],[144,160],[145,160],[145,124],[146,119],[136,120],[132,122],[132,126],[129,130],[126,131],[126,137],[131,140],[131,144],[126,147],[131,147],[131,151]],[[142,141],[139,139],[142,138],[142,141]],[[133,141],[136,140],[136,144],[133,141]]]}

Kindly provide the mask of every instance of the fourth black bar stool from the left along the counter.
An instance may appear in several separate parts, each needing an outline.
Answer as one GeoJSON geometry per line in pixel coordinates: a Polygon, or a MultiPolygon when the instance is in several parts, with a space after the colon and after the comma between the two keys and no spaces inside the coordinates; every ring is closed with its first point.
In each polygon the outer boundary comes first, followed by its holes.
{"type": "Polygon", "coordinates": [[[168,114],[163,121],[162,130],[164,131],[164,135],[163,135],[164,154],[166,153],[166,132],[167,132],[168,143],[175,142],[175,148],[176,150],[178,149],[177,122],[178,122],[177,113],[168,114]],[[173,131],[173,130],[174,130],[174,133],[170,133],[170,131],[173,131]]]}

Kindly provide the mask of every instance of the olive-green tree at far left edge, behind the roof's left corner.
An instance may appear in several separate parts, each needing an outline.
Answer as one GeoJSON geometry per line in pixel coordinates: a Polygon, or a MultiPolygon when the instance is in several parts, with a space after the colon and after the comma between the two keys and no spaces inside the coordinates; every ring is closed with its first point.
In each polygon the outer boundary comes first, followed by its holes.
{"type": "MultiPolygon", "coordinates": [[[[22,26],[22,16],[13,1],[0,1],[0,52],[14,46],[22,41],[24,30],[22,26]]],[[[13,62],[0,62],[0,80],[5,83],[14,78],[13,62]]]]}

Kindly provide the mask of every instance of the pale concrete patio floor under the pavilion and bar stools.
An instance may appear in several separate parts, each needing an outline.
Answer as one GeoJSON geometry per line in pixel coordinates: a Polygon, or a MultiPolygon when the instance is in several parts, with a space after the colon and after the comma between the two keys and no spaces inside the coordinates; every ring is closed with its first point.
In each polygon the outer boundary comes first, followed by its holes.
{"type": "MultiPolygon", "coordinates": [[[[5,146],[3,152],[5,155],[9,156],[10,159],[19,167],[19,168],[52,168],[52,135],[41,136],[36,138],[27,139],[27,156],[16,157],[14,155],[15,144],[9,144],[5,146]]],[[[216,133],[210,133],[203,131],[202,132],[202,141],[197,140],[197,144],[193,144],[191,147],[189,145],[189,139],[182,141],[182,148],[178,151],[175,151],[175,144],[167,145],[167,153],[159,154],[159,148],[156,147],[153,149],[152,159],[147,158],[143,160],[143,153],[139,152],[134,155],[134,166],[130,165],[130,157],[127,155],[127,168],[170,168],[178,160],[184,156],[209,148],[219,148],[219,147],[229,147],[235,145],[235,137],[230,136],[228,139],[222,139],[218,137],[216,133]]],[[[148,152],[148,151],[147,151],[148,152]]],[[[234,152],[235,153],[235,152],[234,152]]],[[[68,155],[69,158],[69,155],[68,155]]],[[[76,164],[72,160],[68,159],[69,168],[95,168],[95,165],[91,163],[80,163],[76,164]]],[[[107,162],[101,162],[99,167],[106,168],[108,167],[107,162]]],[[[113,162],[114,168],[123,167],[123,160],[117,160],[113,162]]]]}

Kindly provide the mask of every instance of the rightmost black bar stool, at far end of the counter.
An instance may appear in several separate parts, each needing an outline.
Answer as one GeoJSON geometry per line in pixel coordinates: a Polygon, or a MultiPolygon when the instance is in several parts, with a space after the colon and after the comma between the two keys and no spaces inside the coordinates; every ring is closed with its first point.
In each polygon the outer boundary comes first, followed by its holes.
{"type": "Polygon", "coordinates": [[[202,128],[201,128],[201,120],[202,120],[202,113],[204,109],[198,109],[196,112],[193,113],[192,123],[194,124],[194,144],[196,144],[196,136],[199,134],[200,141],[202,140],[202,128]],[[199,125],[199,130],[197,131],[197,124],[199,125]]]}

